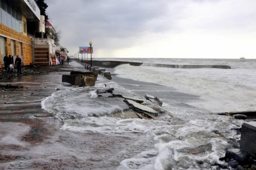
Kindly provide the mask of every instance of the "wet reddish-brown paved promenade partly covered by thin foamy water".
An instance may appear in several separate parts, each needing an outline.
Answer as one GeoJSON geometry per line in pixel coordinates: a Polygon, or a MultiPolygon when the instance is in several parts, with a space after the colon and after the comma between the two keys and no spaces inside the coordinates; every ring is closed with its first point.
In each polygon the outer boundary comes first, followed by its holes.
{"type": "Polygon", "coordinates": [[[41,101],[57,89],[72,86],[62,83],[62,74],[69,74],[72,70],[84,71],[84,67],[74,61],[58,67],[58,72],[0,82],[23,86],[0,92],[1,170],[111,170],[121,161],[118,156],[112,156],[144,137],[141,134],[135,138],[60,130],[62,121],[42,109],[41,101]]]}

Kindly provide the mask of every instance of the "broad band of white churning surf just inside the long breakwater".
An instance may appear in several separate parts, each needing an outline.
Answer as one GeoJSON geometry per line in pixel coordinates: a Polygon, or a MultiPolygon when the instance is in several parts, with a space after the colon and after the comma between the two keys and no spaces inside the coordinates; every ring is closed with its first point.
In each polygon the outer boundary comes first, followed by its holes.
{"type": "Polygon", "coordinates": [[[201,100],[187,104],[211,112],[256,110],[254,69],[182,69],[123,64],[116,67],[115,74],[200,96],[201,100]]]}

